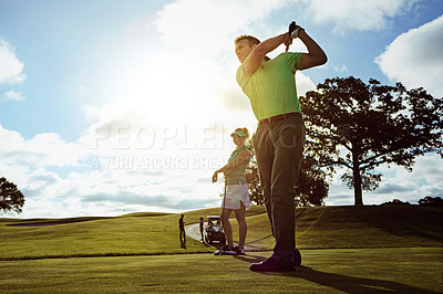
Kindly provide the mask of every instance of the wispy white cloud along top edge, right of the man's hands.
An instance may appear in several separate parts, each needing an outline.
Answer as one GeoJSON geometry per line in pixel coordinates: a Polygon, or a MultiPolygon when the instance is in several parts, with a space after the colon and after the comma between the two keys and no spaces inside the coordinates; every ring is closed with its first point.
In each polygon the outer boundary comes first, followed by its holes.
{"type": "Polygon", "coordinates": [[[418,0],[302,0],[306,15],[317,23],[332,23],[333,32],[380,31],[391,24],[391,19],[409,11],[418,0]]]}

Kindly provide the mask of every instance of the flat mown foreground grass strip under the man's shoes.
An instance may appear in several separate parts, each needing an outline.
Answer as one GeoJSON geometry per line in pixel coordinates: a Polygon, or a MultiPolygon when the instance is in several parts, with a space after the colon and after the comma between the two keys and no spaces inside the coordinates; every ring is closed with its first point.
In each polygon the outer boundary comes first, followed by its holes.
{"type": "Polygon", "coordinates": [[[157,256],[6,261],[2,292],[27,293],[364,293],[442,292],[442,249],[336,249],[301,251],[295,272],[255,273],[245,256],[157,256]]]}

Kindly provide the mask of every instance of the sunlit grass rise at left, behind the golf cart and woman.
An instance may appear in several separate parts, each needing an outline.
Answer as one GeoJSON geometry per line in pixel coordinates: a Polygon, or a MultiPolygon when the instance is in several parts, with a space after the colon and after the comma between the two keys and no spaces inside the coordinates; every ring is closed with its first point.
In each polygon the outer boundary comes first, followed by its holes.
{"type": "MultiPolygon", "coordinates": [[[[248,216],[262,213],[254,207],[248,216]]],[[[186,212],[186,223],[217,214],[219,209],[186,212]]],[[[179,214],[132,213],[117,218],[50,220],[0,219],[0,260],[73,256],[122,256],[213,252],[214,248],[178,238],[179,214]],[[59,223],[45,227],[17,224],[59,223]],[[11,225],[12,224],[12,225],[11,225]]]]}

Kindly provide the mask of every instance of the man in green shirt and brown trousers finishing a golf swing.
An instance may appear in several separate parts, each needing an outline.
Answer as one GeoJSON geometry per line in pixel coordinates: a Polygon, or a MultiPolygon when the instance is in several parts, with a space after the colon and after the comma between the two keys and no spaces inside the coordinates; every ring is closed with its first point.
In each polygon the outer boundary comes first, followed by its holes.
{"type": "Polygon", "coordinates": [[[276,239],[274,254],[253,263],[253,271],[288,271],[299,264],[295,256],[295,185],[300,171],[305,144],[305,124],[297,97],[295,73],[324,64],[323,50],[296,27],[289,33],[264,42],[251,35],[235,40],[235,49],[241,65],[237,82],[249,97],[258,128],[253,138],[256,149],[261,188],[272,234],[276,239]],[[299,38],[308,53],[289,53],[292,39],[299,38]],[[286,53],[270,60],[267,53],[286,45],[286,53]]]}

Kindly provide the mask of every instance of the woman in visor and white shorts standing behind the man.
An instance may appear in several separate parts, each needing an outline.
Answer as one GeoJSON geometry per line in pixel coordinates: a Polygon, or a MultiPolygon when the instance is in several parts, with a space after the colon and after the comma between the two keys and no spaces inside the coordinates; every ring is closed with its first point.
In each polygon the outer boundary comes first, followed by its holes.
{"type": "Polygon", "coordinates": [[[250,209],[248,186],[245,179],[245,171],[250,159],[250,151],[246,148],[245,141],[249,137],[249,132],[246,127],[237,128],[230,136],[233,137],[234,144],[237,145],[237,148],[233,151],[228,164],[214,172],[213,182],[217,181],[217,175],[219,172],[224,172],[226,177],[226,195],[222,202],[220,219],[228,241],[227,246],[223,249],[224,253],[245,254],[247,232],[245,209],[250,209]],[[234,246],[233,227],[229,222],[233,210],[238,222],[238,246],[234,246]]]}

